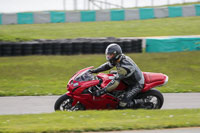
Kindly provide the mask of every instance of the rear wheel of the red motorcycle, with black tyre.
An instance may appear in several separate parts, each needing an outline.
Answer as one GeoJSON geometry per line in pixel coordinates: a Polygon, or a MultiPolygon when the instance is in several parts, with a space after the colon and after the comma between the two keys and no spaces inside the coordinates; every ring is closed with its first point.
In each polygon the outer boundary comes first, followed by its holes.
{"type": "Polygon", "coordinates": [[[144,103],[137,108],[160,109],[164,102],[162,93],[156,89],[141,93],[136,99],[138,98],[143,99],[144,103]]]}

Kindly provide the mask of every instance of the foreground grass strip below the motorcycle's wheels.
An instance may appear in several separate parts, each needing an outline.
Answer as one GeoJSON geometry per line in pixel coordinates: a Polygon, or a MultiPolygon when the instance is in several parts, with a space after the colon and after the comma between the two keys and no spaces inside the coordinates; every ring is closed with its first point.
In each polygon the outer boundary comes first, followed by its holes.
{"type": "Polygon", "coordinates": [[[11,133],[116,131],[194,126],[200,126],[200,109],[0,115],[0,132],[11,133]]]}

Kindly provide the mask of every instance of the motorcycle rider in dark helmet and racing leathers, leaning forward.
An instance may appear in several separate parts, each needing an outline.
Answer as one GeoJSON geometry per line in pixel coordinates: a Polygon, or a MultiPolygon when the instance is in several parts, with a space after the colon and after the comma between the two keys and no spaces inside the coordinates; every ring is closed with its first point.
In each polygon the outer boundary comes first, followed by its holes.
{"type": "Polygon", "coordinates": [[[126,90],[126,93],[122,100],[119,103],[119,106],[122,108],[132,108],[136,104],[136,100],[132,100],[143,88],[144,86],[144,77],[135,64],[135,62],[128,56],[122,54],[121,47],[118,44],[110,44],[105,51],[107,62],[102,64],[96,69],[92,69],[92,73],[98,73],[102,71],[109,70],[116,66],[117,75],[113,80],[111,80],[108,85],[95,92],[96,96],[101,96],[107,92],[114,90],[120,83],[123,81],[129,87],[126,90]]]}

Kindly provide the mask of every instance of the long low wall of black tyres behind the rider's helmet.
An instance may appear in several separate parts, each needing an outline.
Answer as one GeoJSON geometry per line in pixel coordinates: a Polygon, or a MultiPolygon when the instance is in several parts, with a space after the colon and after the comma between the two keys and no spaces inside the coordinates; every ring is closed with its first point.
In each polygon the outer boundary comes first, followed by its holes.
{"type": "Polygon", "coordinates": [[[102,54],[110,43],[125,53],[142,52],[141,39],[65,39],[0,42],[0,56],[102,54]]]}

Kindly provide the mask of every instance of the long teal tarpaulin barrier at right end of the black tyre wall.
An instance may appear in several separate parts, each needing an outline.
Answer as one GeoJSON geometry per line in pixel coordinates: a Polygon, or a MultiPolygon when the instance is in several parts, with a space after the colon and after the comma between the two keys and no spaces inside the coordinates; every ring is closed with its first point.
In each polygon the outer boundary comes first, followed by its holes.
{"type": "Polygon", "coordinates": [[[200,38],[146,39],[146,52],[200,50],[200,38]]]}

